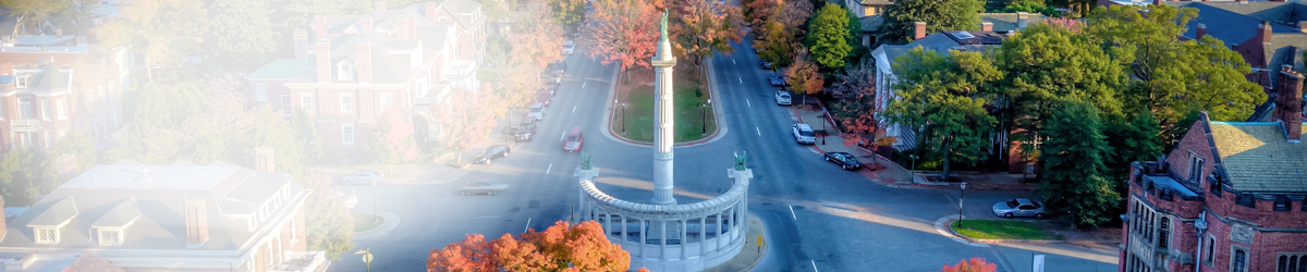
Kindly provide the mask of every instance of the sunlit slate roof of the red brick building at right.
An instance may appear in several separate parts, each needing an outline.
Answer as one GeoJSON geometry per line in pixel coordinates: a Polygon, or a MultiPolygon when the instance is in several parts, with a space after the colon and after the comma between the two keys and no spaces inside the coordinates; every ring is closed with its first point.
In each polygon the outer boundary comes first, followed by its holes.
{"type": "Polygon", "coordinates": [[[1243,192],[1307,192],[1307,144],[1289,143],[1278,122],[1212,122],[1221,165],[1243,192]]]}

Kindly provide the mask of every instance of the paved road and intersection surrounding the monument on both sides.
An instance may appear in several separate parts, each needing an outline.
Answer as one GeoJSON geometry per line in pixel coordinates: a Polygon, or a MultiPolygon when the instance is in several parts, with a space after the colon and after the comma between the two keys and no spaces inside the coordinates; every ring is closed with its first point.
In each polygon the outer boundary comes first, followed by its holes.
{"type": "MultiPolygon", "coordinates": [[[[788,107],[776,106],[766,72],[745,44],[715,58],[719,107],[728,133],[707,145],[676,149],[676,196],[693,203],[729,187],[725,169],[733,152],[749,153],[754,171],[750,212],[765,221],[772,250],[754,271],[937,271],[971,256],[999,263],[1000,271],[1030,271],[1030,256],[1050,254],[1051,271],[1115,269],[1115,248],[1080,246],[968,245],[936,231],[940,217],[957,214],[957,190],[895,190],[843,171],[789,136],[788,107]]],[[[597,186],[633,201],[652,197],[652,148],[604,137],[613,68],[584,56],[567,58],[567,76],[541,123],[538,137],[489,166],[473,166],[468,178],[491,178],[512,186],[499,196],[457,196],[456,183],[359,187],[354,212],[393,212],[403,222],[392,231],[356,241],[370,247],[376,271],[422,271],[431,248],[464,234],[521,233],[565,220],[579,195],[572,169],[579,154],[561,149],[572,127],[586,133],[584,152],[601,169],[597,186]]],[[[985,207],[1012,192],[968,192],[967,217],[992,218],[985,207]]],[[[363,271],[357,255],[345,255],[332,271],[363,271]]]]}

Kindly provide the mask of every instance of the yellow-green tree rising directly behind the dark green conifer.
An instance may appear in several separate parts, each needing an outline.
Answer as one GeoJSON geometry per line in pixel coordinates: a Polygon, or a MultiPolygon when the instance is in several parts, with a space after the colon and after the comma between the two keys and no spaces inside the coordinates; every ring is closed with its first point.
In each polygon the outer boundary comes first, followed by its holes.
{"type": "Polygon", "coordinates": [[[1084,34],[1048,24],[1035,24],[1004,39],[995,51],[995,65],[1004,72],[993,92],[1005,101],[999,114],[1012,141],[1021,143],[1027,158],[1038,157],[1036,136],[1064,98],[1090,102],[1106,114],[1119,114],[1119,89],[1125,84],[1121,67],[1084,34]]]}

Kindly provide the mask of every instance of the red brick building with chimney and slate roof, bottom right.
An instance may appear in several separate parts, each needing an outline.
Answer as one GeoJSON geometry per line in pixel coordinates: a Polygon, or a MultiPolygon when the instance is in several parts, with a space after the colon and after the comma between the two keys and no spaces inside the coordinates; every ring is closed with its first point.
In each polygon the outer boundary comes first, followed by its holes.
{"type": "Polygon", "coordinates": [[[1167,156],[1132,165],[1119,271],[1307,271],[1303,77],[1277,77],[1290,92],[1273,122],[1202,114],[1167,156]]]}

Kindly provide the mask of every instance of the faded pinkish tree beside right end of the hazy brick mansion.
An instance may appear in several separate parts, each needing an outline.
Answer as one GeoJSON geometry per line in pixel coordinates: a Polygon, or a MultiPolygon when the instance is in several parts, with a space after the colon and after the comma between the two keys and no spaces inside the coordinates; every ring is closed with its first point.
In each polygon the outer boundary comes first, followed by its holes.
{"type": "Polygon", "coordinates": [[[440,131],[444,133],[444,146],[457,152],[455,162],[463,163],[463,152],[490,136],[494,129],[494,118],[484,106],[485,95],[491,90],[482,92],[457,90],[452,95],[448,107],[440,118],[440,131]]]}

